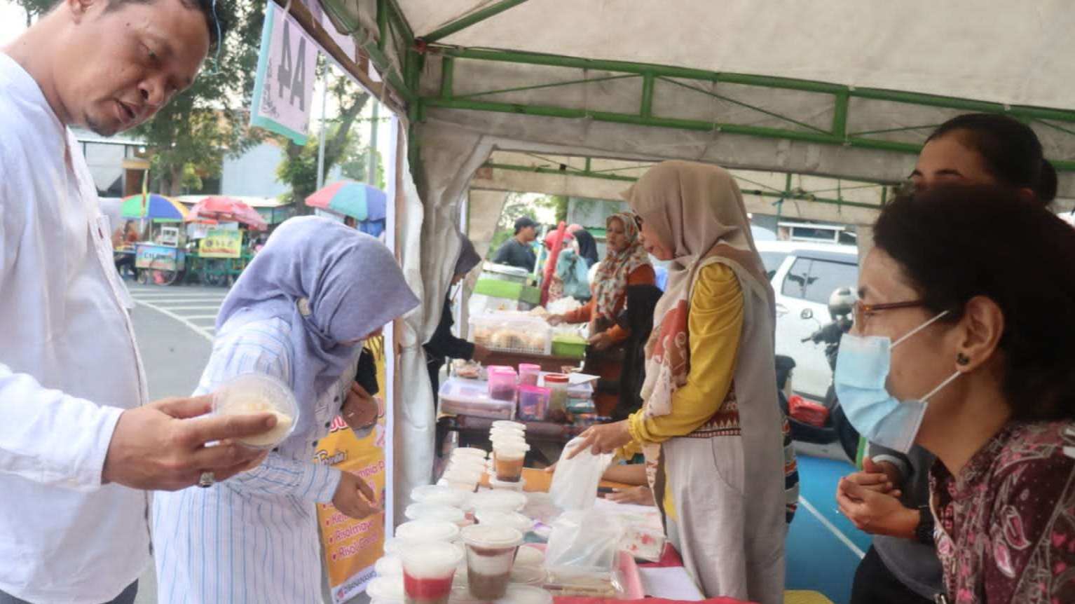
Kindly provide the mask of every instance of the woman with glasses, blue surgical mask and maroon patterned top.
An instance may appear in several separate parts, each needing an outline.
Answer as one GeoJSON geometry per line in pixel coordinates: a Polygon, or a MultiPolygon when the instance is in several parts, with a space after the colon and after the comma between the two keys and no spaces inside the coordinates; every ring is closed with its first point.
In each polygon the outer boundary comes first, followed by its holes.
{"type": "Polygon", "coordinates": [[[1075,602],[1075,230],[1022,195],[943,187],[886,206],[836,364],[863,436],[936,456],[937,552],[960,604],[1075,602]]]}

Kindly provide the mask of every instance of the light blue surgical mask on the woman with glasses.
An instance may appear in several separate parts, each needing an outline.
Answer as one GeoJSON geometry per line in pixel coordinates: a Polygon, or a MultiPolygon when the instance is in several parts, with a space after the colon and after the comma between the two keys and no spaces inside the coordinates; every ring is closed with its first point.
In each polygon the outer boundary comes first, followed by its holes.
{"type": "Polygon", "coordinates": [[[888,393],[885,382],[892,364],[892,348],[947,315],[945,311],[897,340],[882,335],[845,333],[840,341],[834,386],[847,420],[866,441],[907,452],[922,425],[927,402],[960,376],[956,371],[921,399],[900,401],[888,393]]]}

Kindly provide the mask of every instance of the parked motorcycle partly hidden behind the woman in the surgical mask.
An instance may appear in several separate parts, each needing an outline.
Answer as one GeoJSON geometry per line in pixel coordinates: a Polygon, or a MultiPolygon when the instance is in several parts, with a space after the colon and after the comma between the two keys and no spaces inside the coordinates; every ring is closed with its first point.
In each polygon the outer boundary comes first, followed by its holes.
{"type": "MultiPolygon", "coordinates": [[[[833,291],[829,299],[829,312],[832,315],[832,321],[821,325],[817,331],[803,339],[803,342],[814,342],[815,344],[825,345],[825,357],[833,372],[836,371],[840,341],[845,333],[851,330],[852,303],[854,293],[851,293],[850,288],[840,288],[833,291]]],[[[813,312],[809,310],[803,311],[802,318],[807,320],[814,318],[813,312]]],[[[793,396],[791,393],[791,375],[794,366],[794,359],[777,355],[776,385],[779,391],[780,408],[784,409],[784,414],[788,416],[788,421],[791,425],[791,437],[796,441],[817,445],[838,443],[847,457],[855,460],[859,450],[859,433],[847,420],[847,416],[844,414],[844,409],[840,406],[840,401],[836,398],[835,388],[831,383],[822,402],[825,407],[829,409],[829,415],[823,426],[814,426],[791,415],[789,401],[793,396]]]]}

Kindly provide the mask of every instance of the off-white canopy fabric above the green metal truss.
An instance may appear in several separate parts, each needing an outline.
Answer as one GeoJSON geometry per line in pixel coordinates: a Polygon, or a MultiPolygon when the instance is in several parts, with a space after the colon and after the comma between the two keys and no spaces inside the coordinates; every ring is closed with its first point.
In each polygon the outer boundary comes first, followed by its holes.
{"type": "MultiPolygon", "coordinates": [[[[417,37],[493,0],[400,0],[417,37]]],[[[1075,107],[1069,0],[529,0],[440,42],[1075,107]]]]}

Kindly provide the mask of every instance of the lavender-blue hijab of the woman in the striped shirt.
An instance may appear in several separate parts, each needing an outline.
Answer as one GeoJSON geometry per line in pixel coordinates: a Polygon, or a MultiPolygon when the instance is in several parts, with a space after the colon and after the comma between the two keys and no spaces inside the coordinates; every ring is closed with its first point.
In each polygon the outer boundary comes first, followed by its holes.
{"type": "MultiPolygon", "coordinates": [[[[291,326],[291,390],[313,403],[355,359],[356,345],[418,305],[395,256],[335,220],[286,220],[235,282],[216,318],[218,334],[253,320],[291,326]]],[[[296,432],[310,426],[300,414],[296,432]]]]}

